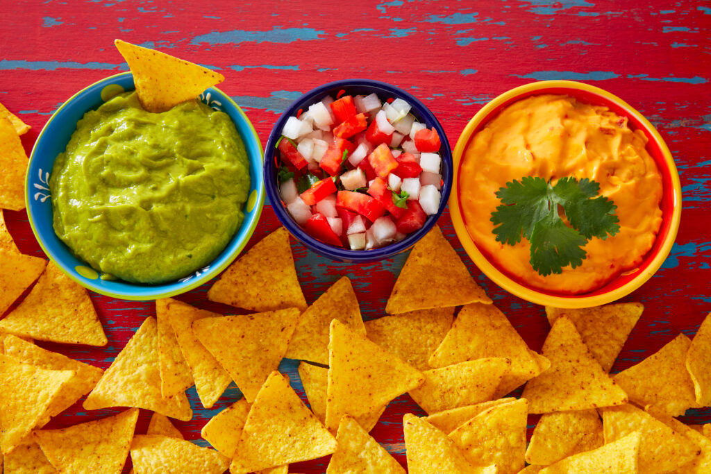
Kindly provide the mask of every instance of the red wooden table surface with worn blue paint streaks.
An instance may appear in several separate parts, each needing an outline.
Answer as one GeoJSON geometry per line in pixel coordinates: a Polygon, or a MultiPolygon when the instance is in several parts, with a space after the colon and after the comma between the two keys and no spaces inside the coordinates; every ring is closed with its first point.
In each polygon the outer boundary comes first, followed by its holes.
{"type": "MultiPolygon", "coordinates": [[[[127,70],[114,38],[162,50],[225,75],[220,88],[244,109],[262,144],[279,114],[301,93],[331,80],[365,77],[390,82],[421,99],[437,115],[454,148],[466,123],[502,92],[536,80],[587,82],[618,95],[644,114],[667,142],[683,187],[681,227],[662,268],[624,301],[645,311],[613,372],[651,355],[678,333],[693,336],[711,311],[711,3],[508,1],[10,1],[0,9],[0,102],[33,129],[26,151],[53,112],[77,90],[127,70]]],[[[1,171],[0,171],[1,172],[1,171]]],[[[22,252],[43,255],[26,212],[6,212],[22,252]]],[[[279,225],[269,204],[250,245],[279,225]]],[[[449,214],[439,221],[471,274],[510,318],[533,350],[549,330],[543,308],[499,289],[461,249],[449,214]]],[[[406,255],[367,265],[339,264],[292,242],[306,300],[313,302],[339,276],[353,280],[365,319],[383,316],[385,301],[406,255]]],[[[210,284],[179,296],[221,313],[210,284]]],[[[109,344],[93,349],[41,343],[79,360],[108,367],[146,316],[152,302],[91,294],[109,344]]],[[[296,362],[282,370],[301,390],[296,362]]],[[[176,426],[201,446],[205,421],[240,393],[232,385],[213,409],[194,387],[195,416],[176,426]]],[[[305,399],[305,398],[304,398],[305,399]]],[[[80,403],[49,426],[68,426],[119,409],[86,412],[80,403]]],[[[388,407],[372,435],[405,464],[402,414],[424,412],[407,396],[388,407]]],[[[683,421],[711,422],[711,409],[683,421]]],[[[141,410],[137,433],[149,412],[141,410]]],[[[292,471],[324,472],[317,460],[292,471]]]]}

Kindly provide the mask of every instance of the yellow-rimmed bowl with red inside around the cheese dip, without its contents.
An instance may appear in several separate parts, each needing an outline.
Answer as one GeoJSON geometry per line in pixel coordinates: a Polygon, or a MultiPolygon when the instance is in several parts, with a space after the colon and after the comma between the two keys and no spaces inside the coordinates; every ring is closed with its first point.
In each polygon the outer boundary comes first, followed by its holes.
{"type": "Polygon", "coordinates": [[[454,230],[464,250],[474,261],[476,266],[483,271],[494,283],[515,296],[532,303],[558,308],[587,308],[616,301],[623,296],[638,289],[645,281],[651,278],[668,256],[679,229],[681,217],[681,185],[679,174],[676,170],[674,158],[664,143],[658,131],[629,104],[609,92],[583,84],[582,82],[550,80],[533,82],[531,84],[515,87],[508,92],[496,97],[486,104],[466,125],[461,132],[454,148],[454,185],[449,198],[449,209],[454,230]],[[604,105],[613,112],[629,119],[632,129],[639,129],[648,138],[647,151],[652,156],[662,175],[663,195],[661,201],[662,224],[651,250],[643,258],[641,264],[635,269],[624,271],[616,278],[607,282],[601,288],[580,294],[564,294],[541,291],[523,284],[506,273],[498,264],[491,262],[476,246],[464,225],[461,212],[459,178],[462,156],[469,141],[477,131],[483,128],[504,107],[525,97],[542,94],[569,95],[581,102],[595,105],[604,105]]]}

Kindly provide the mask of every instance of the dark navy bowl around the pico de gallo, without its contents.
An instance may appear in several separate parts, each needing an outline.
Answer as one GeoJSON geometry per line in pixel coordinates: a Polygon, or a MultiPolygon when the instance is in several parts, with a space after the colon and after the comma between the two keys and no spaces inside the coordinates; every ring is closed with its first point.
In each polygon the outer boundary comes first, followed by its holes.
{"type": "Polygon", "coordinates": [[[415,242],[432,229],[437,219],[439,219],[439,216],[442,215],[444,208],[447,207],[447,200],[449,199],[449,192],[452,185],[453,169],[451,148],[449,147],[449,141],[447,141],[447,135],[444,134],[444,129],[442,129],[442,125],[439,124],[434,114],[429,112],[429,109],[427,109],[422,102],[404,90],[394,85],[386,84],[385,82],[368,79],[346,79],[328,82],[328,84],[306,92],[306,94],[299,97],[299,99],[296,99],[296,101],[284,111],[282,116],[279,117],[279,120],[277,120],[277,123],[272,129],[272,133],[269,134],[269,140],[267,141],[267,146],[264,151],[264,185],[267,188],[269,203],[271,203],[272,208],[274,208],[274,212],[277,214],[277,217],[279,217],[279,220],[282,221],[284,227],[286,227],[299,242],[306,245],[306,247],[309,247],[309,249],[317,254],[339,262],[376,262],[410,249],[415,242]],[[287,208],[284,207],[279,196],[277,166],[274,154],[277,151],[275,145],[279,140],[279,136],[282,135],[284,124],[287,123],[289,117],[295,116],[299,109],[306,110],[309,108],[309,105],[319,102],[327,95],[335,97],[340,90],[344,90],[346,95],[368,95],[375,92],[381,100],[385,100],[389,97],[393,99],[403,99],[412,105],[410,113],[415,115],[419,122],[426,124],[427,128],[431,129],[434,127],[434,129],[437,130],[437,134],[439,134],[439,139],[442,141],[442,148],[439,150],[439,154],[442,156],[442,181],[444,181],[444,185],[442,185],[442,190],[440,191],[442,193],[442,199],[439,202],[437,214],[428,216],[422,229],[412,232],[412,234],[407,235],[407,237],[400,242],[395,242],[385,247],[380,247],[379,249],[344,249],[324,244],[324,242],[314,239],[314,237],[311,237],[311,235],[307,234],[304,229],[296,224],[292,216],[289,215],[287,208]]]}

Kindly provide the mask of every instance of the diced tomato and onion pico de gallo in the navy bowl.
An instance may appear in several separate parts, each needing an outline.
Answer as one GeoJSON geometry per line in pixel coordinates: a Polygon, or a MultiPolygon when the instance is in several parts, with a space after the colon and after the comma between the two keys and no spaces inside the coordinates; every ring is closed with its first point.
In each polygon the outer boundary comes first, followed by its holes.
{"type": "Polygon", "coordinates": [[[442,198],[442,141],[405,100],[324,97],[289,117],[275,145],[284,205],[312,237],[384,247],[420,229],[442,198]]]}

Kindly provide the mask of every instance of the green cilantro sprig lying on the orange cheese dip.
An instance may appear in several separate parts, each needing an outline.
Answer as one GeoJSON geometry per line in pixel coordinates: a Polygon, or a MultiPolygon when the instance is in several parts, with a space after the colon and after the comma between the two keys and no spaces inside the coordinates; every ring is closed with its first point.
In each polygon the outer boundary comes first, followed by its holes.
{"type": "Polygon", "coordinates": [[[496,192],[502,204],[491,213],[496,240],[514,245],[528,239],[530,264],[542,276],[582,265],[589,239],[606,239],[620,228],[617,206],[604,196],[596,198],[599,190],[599,183],[571,176],[555,185],[533,176],[510,181],[496,192]]]}

